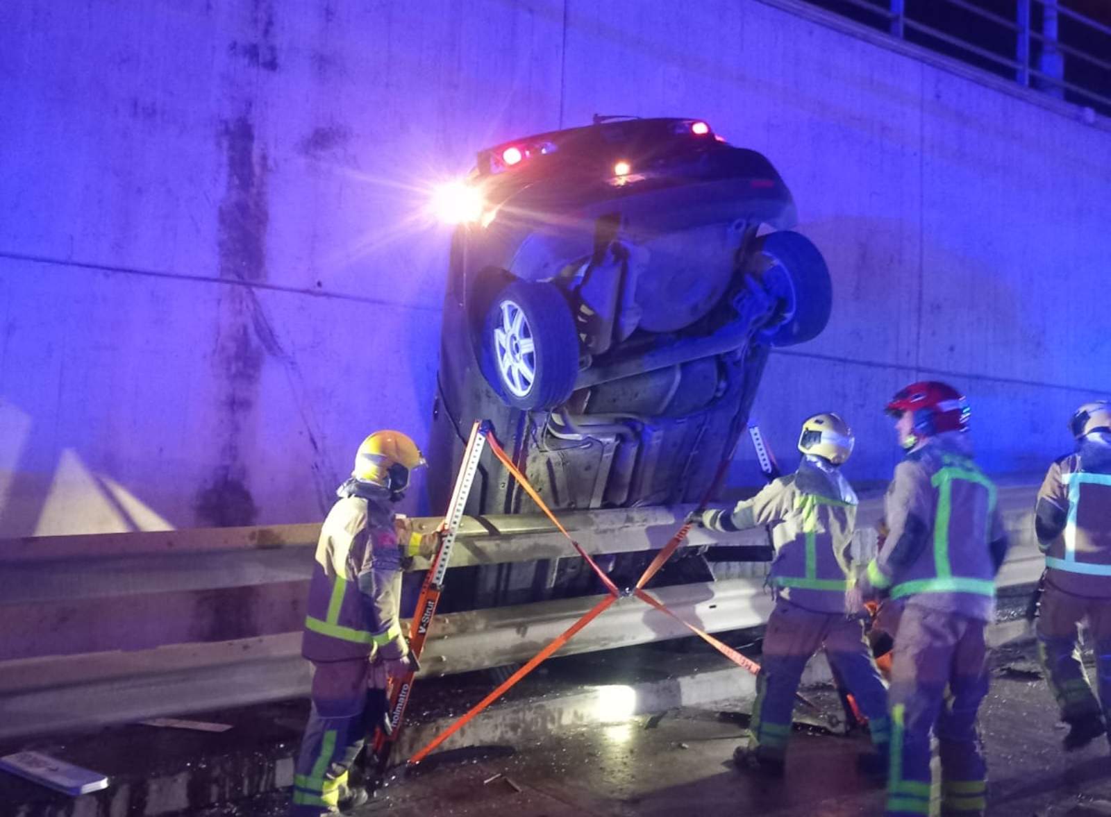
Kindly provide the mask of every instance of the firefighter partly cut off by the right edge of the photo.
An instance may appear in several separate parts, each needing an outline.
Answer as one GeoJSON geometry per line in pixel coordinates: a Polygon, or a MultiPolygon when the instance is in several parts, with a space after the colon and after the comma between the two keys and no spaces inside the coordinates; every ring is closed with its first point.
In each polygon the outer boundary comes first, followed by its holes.
{"type": "Polygon", "coordinates": [[[1069,725],[1065,750],[1102,735],[1111,716],[1111,404],[1080,406],[1070,430],[1077,451],[1050,465],[1034,512],[1045,554],[1038,656],[1069,725]],[[1080,663],[1083,619],[1095,642],[1102,710],[1080,663]]]}

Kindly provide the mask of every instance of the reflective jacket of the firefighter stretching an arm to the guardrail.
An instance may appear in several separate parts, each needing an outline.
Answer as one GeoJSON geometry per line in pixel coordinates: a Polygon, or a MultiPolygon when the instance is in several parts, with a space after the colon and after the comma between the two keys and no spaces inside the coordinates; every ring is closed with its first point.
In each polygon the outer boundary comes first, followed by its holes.
{"type": "Polygon", "coordinates": [[[777,593],[814,612],[841,613],[855,523],[852,486],[838,468],[804,457],[795,473],[773,480],[732,511],[712,514],[707,526],[769,526],[775,548],[769,582],[777,593]]]}

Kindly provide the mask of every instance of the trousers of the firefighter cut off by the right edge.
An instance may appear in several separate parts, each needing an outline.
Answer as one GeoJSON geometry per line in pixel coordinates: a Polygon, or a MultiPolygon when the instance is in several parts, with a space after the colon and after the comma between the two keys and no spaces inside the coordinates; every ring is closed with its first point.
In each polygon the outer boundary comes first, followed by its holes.
{"type": "Polygon", "coordinates": [[[1052,584],[1045,586],[1038,612],[1038,658],[1049,682],[1061,719],[1111,715],[1111,598],[1074,596],[1052,584]],[[1080,663],[1079,628],[1088,619],[1095,647],[1099,702],[1080,663]],[[1100,704],[1102,703],[1102,708],[1100,704]]]}

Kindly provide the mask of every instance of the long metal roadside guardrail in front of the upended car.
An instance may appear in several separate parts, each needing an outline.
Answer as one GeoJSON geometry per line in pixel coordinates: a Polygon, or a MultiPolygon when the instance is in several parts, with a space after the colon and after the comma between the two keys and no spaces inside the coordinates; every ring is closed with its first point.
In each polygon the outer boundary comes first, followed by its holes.
{"type": "MultiPolygon", "coordinates": [[[[1000,490],[1015,544],[1000,586],[1030,584],[1041,572],[1033,497],[1029,486],[1000,490]]],[[[660,549],[688,511],[589,511],[562,518],[587,552],[607,554],[660,549]]],[[[861,557],[874,549],[870,526],[880,513],[879,498],[861,503],[861,557]]],[[[319,525],[290,525],[0,542],[0,738],[304,695],[309,668],[299,631],[318,532],[319,525]]],[[[695,528],[687,545],[764,542],[762,531],[695,528]]],[[[573,555],[541,517],[468,518],[452,568],[573,555]]],[[[771,597],[764,565],[753,567],[760,575],[652,592],[710,633],[758,626],[771,597]]],[[[599,598],[437,616],[422,675],[524,660],[599,598]]],[[[623,599],[560,654],[685,636],[662,613],[623,599]]]]}

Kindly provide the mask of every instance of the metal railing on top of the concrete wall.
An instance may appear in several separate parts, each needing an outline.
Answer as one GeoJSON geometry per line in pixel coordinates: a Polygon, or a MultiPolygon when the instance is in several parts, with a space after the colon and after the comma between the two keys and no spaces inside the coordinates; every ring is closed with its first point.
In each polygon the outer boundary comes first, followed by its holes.
{"type": "MultiPolygon", "coordinates": [[[[809,2],[831,11],[840,11],[839,6],[859,9],[869,18],[873,28],[885,30],[897,39],[912,41],[925,48],[931,48],[930,40],[943,42],[963,52],[965,62],[978,64],[977,60],[967,59],[968,56],[974,56],[997,69],[992,73],[997,75],[1007,73],[1024,88],[1033,88],[1058,98],[1063,98],[1068,91],[1082,100],[1082,104],[1094,107],[1102,113],[1111,115],[1111,60],[1108,59],[1111,54],[1111,27],[1062,6],[1058,0],[1015,0],[1013,19],[985,9],[974,0],[932,0],[929,4],[931,10],[935,11],[942,7],[960,9],[972,18],[989,23],[993,36],[979,42],[954,31],[943,31],[909,13],[905,0],[809,0],[809,2]],[[1037,27],[1035,19],[1040,23],[1037,27]],[[1071,27],[1088,32],[1093,40],[1102,37],[1102,50],[1093,53],[1065,42],[1061,36],[1062,19],[1069,21],[1071,27]],[[1010,44],[1012,40],[1013,48],[1008,56],[991,48],[1003,41],[1010,44]],[[1104,72],[1102,83],[1079,84],[1067,79],[1068,74],[1077,73],[1081,65],[1104,72]]],[[[850,17],[862,21],[857,16],[850,17]]],[[[953,56],[935,47],[932,50],[953,56]]]]}

